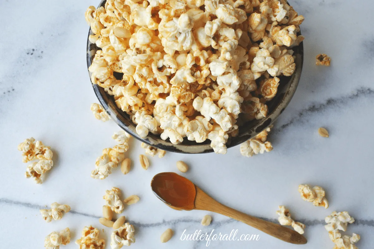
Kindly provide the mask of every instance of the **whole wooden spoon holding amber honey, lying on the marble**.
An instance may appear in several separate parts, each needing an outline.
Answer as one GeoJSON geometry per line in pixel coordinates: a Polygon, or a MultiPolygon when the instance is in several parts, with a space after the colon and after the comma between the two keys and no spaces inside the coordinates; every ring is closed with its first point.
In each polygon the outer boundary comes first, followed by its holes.
{"type": "Polygon", "coordinates": [[[215,212],[244,222],[285,242],[298,245],[307,243],[306,238],[294,230],[244,214],[217,202],[190,180],[174,172],[163,172],[155,175],[151,181],[151,187],[153,193],[171,208],[215,212]]]}

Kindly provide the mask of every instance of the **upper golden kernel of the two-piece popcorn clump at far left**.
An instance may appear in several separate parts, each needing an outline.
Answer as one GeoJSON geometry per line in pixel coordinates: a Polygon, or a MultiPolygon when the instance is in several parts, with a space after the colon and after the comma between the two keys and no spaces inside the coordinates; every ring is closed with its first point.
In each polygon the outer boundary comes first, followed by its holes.
{"type": "Polygon", "coordinates": [[[30,137],[18,145],[18,150],[22,151],[22,162],[30,162],[35,159],[52,160],[53,152],[49,146],[45,146],[41,141],[36,141],[30,137]]]}

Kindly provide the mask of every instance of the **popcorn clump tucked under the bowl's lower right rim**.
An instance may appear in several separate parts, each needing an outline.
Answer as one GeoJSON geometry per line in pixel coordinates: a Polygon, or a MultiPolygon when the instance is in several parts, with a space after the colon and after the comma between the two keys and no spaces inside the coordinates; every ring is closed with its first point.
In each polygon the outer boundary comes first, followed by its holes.
{"type": "Polygon", "coordinates": [[[273,146],[269,141],[266,141],[267,134],[273,126],[267,127],[265,130],[258,133],[254,138],[251,138],[240,144],[240,154],[246,157],[263,154],[273,150],[273,146]]]}

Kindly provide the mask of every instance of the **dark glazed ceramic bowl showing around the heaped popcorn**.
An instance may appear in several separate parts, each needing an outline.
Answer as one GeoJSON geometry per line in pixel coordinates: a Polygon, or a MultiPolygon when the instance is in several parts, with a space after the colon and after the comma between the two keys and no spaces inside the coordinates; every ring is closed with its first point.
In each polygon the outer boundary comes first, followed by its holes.
{"type": "MultiPolygon", "coordinates": [[[[101,1],[100,6],[105,5],[106,0],[101,1]]],[[[88,36],[92,35],[91,28],[89,29],[88,36]]],[[[301,32],[298,33],[300,35],[301,32]]],[[[93,57],[95,56],[98,47],[92,44],[87,37],[87,68],[91,65],[93,57]]],[[[226,143],[227,148],[234,147],[241,144],[256,136],[258,133],[263,131],[266,127],[273,124],[273,122],[278,118],[279,115],[285,110],[289,102],[291,101],[294,93],[296,91],[297,85],[300,81],[301,71],[303,68],[304,60],[304,48],[303,42],[299,46],[292,48],[294,50],[295,56],[295,72],[291,77],[279,77],[281,81],[278,87],[278,93],[275,98],[270,102],[267,102],[269,107],[269,112],[267,117],[259,120],[252,120],[246,122],[244,125],[239,126],[239,134],[236,137],[229,137],[226,143]]],[[[91,72],[89,72],[89,77],[91,81],[91,72]]],[[[92,83],[91,83],[92,84],[92,83]]],[[[187,153],[187,154],[199,154],[199,153],[209,153],[213,152],[210,146],[210,140],[206,140],[203,143],[196,143],[195,141],[189,141],[185,137],[183,142],[180,144],[172,144],[170,141],[164,141],[161,139],[160,135],[155,135],[149,133],[147,137],[141,138],[135,130],[136,125],[132,123],[129,115],[119,109],[114,102],[113,96],[110,96],[104,91],[104,88],[99,87],[97,84],[92,84],[93,90],[95,91],[96,97],[98,98],[100,104],[104,107],[105,111],[110,115],[111,119],[116,122],[119,127],[125,130],[131,136],[137,138],[143,143],[149,144],[151,146],[157,147],[159,149],[167,150],[170,152],[177,153],[187,153]]]]}

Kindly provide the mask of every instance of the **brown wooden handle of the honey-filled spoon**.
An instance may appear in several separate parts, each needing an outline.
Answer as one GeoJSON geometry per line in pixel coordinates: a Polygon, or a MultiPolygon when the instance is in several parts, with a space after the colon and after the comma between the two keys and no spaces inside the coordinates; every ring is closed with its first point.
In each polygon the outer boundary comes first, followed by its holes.
{"type": "Polygon", "coordinates": [[[306,238],[301,234],[297,233],[296,231],[291,230],[287,227],[283,227],[279,224],[275,224],[273,222],[264,221],[251,215],[244,214],[233,208],[229,208],[228,206],[225,206],[214,200],[212,197],[208,196],[208,194],[203,192],[197,186],[195,209],[212,211],[218,214],[225,215],[235,220],[244,222],[245,224],[248,224],[251,227],[257,228],[258,230],[261,230],[264,233],[267,233],[285,242],[298,245],[307,243],[306,238]]]}

